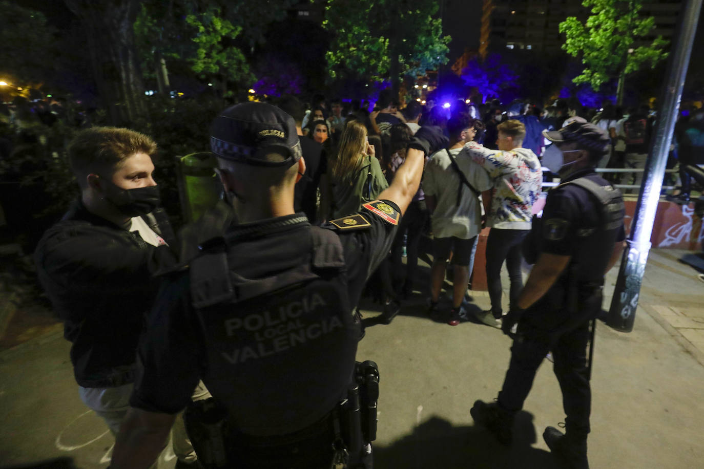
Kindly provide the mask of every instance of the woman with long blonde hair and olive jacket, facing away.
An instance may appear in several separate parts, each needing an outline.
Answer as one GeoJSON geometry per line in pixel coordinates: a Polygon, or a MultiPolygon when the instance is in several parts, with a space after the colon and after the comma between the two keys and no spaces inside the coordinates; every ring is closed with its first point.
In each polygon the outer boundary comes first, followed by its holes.
{"type": "Polygon", "coordinates": [[[329,164],[332,183],[332,218],[356,213],[389,187],[374,147],[367,141],[367,128],[353,120],[345,126],[337,155],[329,164]]]}

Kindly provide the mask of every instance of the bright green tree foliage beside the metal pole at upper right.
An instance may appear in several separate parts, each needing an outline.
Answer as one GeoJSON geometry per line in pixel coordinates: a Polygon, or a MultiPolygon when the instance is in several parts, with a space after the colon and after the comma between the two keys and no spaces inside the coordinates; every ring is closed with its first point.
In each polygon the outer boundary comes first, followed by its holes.
{"type": "Polygon", "coordinates": [[[610,79],[628,75],[643,65],[653,68],[667,57],[668,41],[656,37],[648,45],[635,47],[655,27],[653,17],[639,14],[640,0],[584,0],[591,15],[582,23],[570,16],[560,23],[566,35],[562,49],[571,56],[581,56],[584,70],[574,83],[589,83],[598,90],[610,79]]]}

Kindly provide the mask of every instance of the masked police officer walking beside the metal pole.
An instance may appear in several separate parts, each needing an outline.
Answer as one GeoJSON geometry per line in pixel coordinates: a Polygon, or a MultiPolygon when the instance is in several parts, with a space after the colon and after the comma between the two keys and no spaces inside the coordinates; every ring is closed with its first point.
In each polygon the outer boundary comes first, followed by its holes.
{"type": "Polygon", "coordinates": [[[545,155],[543,165],[558,172],[562,184],[548,193],[543,217],[534,221],[524,252],[535,265],[517,304],[503,319],[504,333],[517,324],[503,388],[496,402],[476,401],[471,413],[477,424],[510,444],[513,416],[552,352],[566,433],[548,427],[543,438],[560,467],[582,469],[589,467],[589,323],[601,311],[604,275],[623,249],[624,205],[619,191],[594,172],[608,149],[604,131],[578,120],[543,135],[554,143],[554,154],[545,155]]]}

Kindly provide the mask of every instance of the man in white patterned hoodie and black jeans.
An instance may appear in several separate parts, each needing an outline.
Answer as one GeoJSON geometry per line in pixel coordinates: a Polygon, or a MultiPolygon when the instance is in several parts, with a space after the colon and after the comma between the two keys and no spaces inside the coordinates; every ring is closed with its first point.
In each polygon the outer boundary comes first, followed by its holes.
{"type": "Polygon", "coordinates": [[[515,303],[521,289],[521,244],[532,224],[533,204],[538,199],[543,172],[538,157],[529,148],[522,148],[525,126],[517,120],[502,122],[497,127],[498,150],[484,148],[476,142],[465,145],[463,152],[484,167],[494,186],[482,193],[486,226],[491,227],[486,241],[486,281],[491,309],[479,319],[489,326],[500,327],[501,266],[506,261],[510,278],[510,304],[515,303]]]}

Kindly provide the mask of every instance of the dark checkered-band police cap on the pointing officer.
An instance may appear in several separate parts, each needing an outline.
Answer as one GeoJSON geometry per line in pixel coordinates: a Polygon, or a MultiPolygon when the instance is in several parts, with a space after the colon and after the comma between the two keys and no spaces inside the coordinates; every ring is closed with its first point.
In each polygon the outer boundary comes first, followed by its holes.
{"type": "Polygon", "coordinates": [[[210,150],[218,158],[263,167],[288,167],[302,154],[294,118],[256,102],[234,105],[215,117],[210,150]]]}

